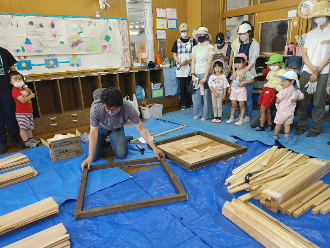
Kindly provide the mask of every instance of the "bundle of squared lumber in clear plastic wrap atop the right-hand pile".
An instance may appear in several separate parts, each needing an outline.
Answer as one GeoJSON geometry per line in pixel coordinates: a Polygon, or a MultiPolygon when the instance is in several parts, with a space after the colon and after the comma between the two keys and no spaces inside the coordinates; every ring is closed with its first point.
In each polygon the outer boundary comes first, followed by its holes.
{"type": "MultiPolygon", "coordinates": [[[[287,176],[272,182],[266,189],[263,189],[260,194],[260,205],[276,213],[282,203],[319,180],[329,171],[330,161],[310,159],[287,176]]],[[[322,187],[324,191],[328,185],[322,187]]]]}

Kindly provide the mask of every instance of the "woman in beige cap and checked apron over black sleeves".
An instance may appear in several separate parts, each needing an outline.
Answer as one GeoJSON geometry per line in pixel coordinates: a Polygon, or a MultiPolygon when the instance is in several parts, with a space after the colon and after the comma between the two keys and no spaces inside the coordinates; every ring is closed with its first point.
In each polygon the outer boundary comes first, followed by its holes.
{"type": "Polygon", "coordinates": [[[181,23],[180,38],[174,41],[172,47],[173,58],[176,61],[175,73],[180,82],[180,106],[181,110],[192,107],[191,94],[188,92],[191,81],[191,51],[197,43],[193,38],[188,37],[188,25],[181,23]]]}

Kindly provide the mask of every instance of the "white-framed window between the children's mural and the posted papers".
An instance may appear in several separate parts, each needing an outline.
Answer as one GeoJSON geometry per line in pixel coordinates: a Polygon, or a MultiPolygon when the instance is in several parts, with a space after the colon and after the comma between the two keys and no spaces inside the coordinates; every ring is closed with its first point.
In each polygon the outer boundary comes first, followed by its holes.
{"type": "Polygon", "coordinates": [[[151,3],[127,1],[130,48],[133,66],[145,66],[154,60],[151,3]]]}

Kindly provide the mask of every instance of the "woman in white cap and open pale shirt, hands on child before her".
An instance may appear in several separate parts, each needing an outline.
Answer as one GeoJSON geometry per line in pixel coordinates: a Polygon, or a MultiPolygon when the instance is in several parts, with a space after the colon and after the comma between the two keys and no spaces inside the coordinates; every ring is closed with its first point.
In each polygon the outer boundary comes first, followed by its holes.
{"type": "MultiPolygon", "coordinates": [[[[256,77],[255,72],[255,62],[259,57],[260,46],[259,43],[253,40],[252,27],[248,23],[243,23],[239,26],[237,34],[239,35],[239,43],[235,46],[234,56],[243,53],[248,58],[248,65],[245,67],[243,72],[239,75],[236,74],[235,64],[232,65],[232,78],[235,79],[238,76],[239,81],[243,81],[244,75],[247,71],[250,71],[254,77],[256,77]]],[[[245,102],[245,118],[243,122],[249,122],[252,113],[252,94],[253,94],[253,83],[250,83],[246,87],[247,90],[247,101],[245,102]]],[[[239,120],[240,116],[235,119],[239,120]]]]}

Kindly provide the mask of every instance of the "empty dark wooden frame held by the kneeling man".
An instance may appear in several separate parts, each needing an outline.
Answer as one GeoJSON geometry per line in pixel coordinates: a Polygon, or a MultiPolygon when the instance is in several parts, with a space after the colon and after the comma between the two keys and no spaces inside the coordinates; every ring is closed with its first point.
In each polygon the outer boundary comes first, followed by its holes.
{"type": "Polygon", "coordinates": [[[74,216],[75,219],[89,218],[89,217],[93,217],[93,216],[112,214],[112,213],[121,212],[121,211],[141,209],[141,208],[146,208],[146,207],[151,207],[151,206],[157,206],[157,205],[168,204],[168,203],[176,203],[176,202],[188,200],[187,193],[185,192],[184,188],[182,187],[182,185],[180,184],[180,182],[178,181],[178,179],[176,178],[176,176],[174,175],[173,171],[171,170],[169,165],[166,163],[164,158],[161,158],[160,161],[157,158],[149,158],[149,159],[129,160],[129,161],[124,161],[124,162],[102,164],[102,165],[94,165],[94,166],[91,166],[90,170],[94,171],[94,170],[100,170],[100,169],[106,169],[106,168],[115,168],[115,167],[121,167],[121,166],[127,166],[127,165],[140,165],[140,164],[153,163],[153,162],[160,162],[160,164],[164,168],[167,176],[169,177],[169,179],[171,180],[172,184],[174,185],[176,191],[178,192],[177,194],[83,210],[85,188],[86,188],[87,175],[88,175],[88,169],[87,169],[87,167],[85,167],[83,170],[83,175],[81,178],[81,183],[80,183],[80,188],[79,188],[79,193],[78,193],[78,199],[77,199],[75,216],[74,216]]]}

